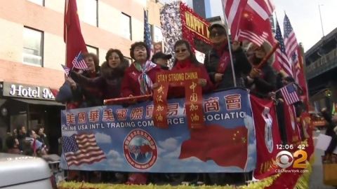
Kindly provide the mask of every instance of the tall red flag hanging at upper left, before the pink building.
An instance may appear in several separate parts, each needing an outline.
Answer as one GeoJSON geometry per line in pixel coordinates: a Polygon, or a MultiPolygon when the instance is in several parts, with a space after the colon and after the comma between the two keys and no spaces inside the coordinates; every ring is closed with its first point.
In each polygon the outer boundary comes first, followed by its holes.
{"type": "Polygon", "coordinates": [[[72,60],[79,52],[88,52],[81,34],[76,0],[65,0],[64,40],[66,43],[67,67],[72,68],[72,60]]]}

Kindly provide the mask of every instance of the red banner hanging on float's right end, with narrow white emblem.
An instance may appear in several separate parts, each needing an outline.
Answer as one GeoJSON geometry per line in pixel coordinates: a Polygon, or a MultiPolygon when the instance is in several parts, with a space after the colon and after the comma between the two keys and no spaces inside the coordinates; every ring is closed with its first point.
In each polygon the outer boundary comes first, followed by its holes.
{"type": "Polygon", "coordinates": [[[256,132],[257,164],[253,172],[256,179],[264,179],[276,174],[277,144],[282,144],[275,106],[272,100],[259,99],[251,95],[251,108],[254,113],[256,132]]]}

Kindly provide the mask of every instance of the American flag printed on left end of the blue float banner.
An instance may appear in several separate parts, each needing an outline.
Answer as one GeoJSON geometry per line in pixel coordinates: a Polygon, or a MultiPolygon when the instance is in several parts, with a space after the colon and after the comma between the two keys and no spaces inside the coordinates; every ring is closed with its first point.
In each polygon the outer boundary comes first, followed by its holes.
{"type": "Polygon", "coordinates": [[[95,134],[73,134],[62,137],[63,153],[67,165],[92,164],[106,159],[104,152],[97,146],[95,134]]]}

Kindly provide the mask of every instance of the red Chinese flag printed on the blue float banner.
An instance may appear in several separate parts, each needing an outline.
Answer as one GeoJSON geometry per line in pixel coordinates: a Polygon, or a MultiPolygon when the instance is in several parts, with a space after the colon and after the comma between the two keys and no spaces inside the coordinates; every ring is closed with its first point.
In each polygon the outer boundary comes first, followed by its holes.
{"type": "Polygon", "coordinates": [[[206,162],[213,160],[217,165],[246,167],[248,130],[244,126],[225,128],[206,125],[191,131],[191,138],[184,141],[179,159],[196,157],[206,162]],[[235,153],[233,153],[235,152],[235,153]]]}

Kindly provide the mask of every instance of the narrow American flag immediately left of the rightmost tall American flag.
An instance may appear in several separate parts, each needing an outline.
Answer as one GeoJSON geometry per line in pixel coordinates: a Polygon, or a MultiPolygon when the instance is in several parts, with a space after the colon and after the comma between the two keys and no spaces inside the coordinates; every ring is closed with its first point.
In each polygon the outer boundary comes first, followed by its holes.
{"type": "Polygon", "coordinates": [[[288,57],[286,56],[286,48],[284,47],[284,41],[279,28],[279,22],[276,21],[276,34],[275,39],[279,41],[279,48],[276,50],[276,59],[279,62],[279,65],[282,67],[283,71],[288,74],[288,76],[293,77],[293,69],[289,62],[288,57]]]}

